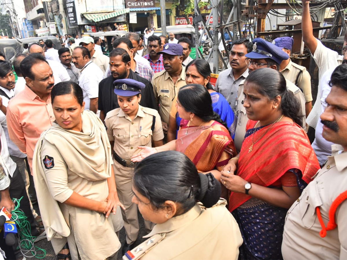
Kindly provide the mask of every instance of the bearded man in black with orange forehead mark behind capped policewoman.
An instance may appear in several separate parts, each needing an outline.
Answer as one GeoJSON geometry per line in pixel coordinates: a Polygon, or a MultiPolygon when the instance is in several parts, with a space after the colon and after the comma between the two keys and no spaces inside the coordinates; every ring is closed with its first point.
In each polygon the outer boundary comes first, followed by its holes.
{"type": "Polygon", "coordinates": [[[110,52],[110,70],[111,75],[101,80],[99,84],[99,101],[100,119],[105,120],[106,114],[119,107],[117,95],[113,92],[115,86],[113,81],[116,79],[134,79],[145,84],[145,88],[141,92],[141,105],[158,110],[158,105],[155,102],[152,84],[138,76],[130,69],[131,59],[128,52],[122,48],[113,49],[110,52]]]}

